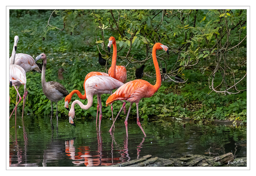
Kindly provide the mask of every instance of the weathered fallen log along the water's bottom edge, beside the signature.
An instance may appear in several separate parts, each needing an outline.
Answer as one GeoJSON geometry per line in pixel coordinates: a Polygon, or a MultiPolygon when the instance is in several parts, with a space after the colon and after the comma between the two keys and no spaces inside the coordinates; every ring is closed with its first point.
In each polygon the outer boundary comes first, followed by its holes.
{"type": "Polygon", "coordinates": [[[116,165],[111,165],[110,167],[170,167],[170,166],[246,166],[246,158],[237,158],[234,159],[234,155],[232,153],[227,153],[221,156],[216,157],[208,157],[202,155],[187,155],[182,158],[171,158],[164,159],[159,157],[152,157],[151,155],[146,155],[139,159],[134,159],[131,161],[119,163],[116,165]]]}

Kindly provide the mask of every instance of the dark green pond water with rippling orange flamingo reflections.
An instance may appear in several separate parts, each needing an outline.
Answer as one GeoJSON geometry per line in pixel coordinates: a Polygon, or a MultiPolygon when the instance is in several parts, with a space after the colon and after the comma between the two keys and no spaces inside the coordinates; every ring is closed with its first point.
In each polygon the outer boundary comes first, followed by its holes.
{"type": "Polygon", "coordinates": [[[124,119],[102,119],[98,132],[96,119],[15,115],[9,121],[9,166],[69,167],[108,166],[145,155],[180,158],[188,154],[218,156],[232,152],[235,158],[247,156],[246,128],[231,125],[195,124],[176,119],[128,119],[128,138],[124,119]],[[185,124],[185,125],[184,125],[185,124]]]}

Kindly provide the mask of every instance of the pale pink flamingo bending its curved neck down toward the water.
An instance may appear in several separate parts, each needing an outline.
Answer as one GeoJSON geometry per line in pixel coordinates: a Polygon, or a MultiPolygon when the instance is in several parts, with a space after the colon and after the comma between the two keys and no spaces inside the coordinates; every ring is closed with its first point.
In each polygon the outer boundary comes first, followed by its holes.
{"type": "Polygon", "coordinates": [[[112,90],[117,89],[124,83],[112,78],[110,76],[93,76],[86,80],[85,82],[85,90],[87,96],[87,104],[84,105],[79,100],[75,100],[71,104],[71,108],[68,112],[69,116],[69,123],[76,126],[73,119],[75,117],[75,104],[78,104],[82,109],[89,109],[93,104],[93,95],[97,94],[97,99],[99,102],[99,109],[100,109],[100,117],[99,117],[99,131],[100,131],[100,124],[102,119],[102,105],[101,105],[101,94],[110,94],[112,90]]]}

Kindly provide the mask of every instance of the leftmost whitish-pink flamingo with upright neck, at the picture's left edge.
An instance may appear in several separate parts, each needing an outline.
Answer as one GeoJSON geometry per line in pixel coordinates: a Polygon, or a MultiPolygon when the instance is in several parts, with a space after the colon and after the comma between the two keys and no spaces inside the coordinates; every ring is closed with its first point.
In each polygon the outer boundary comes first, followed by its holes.
{"type": "Polygon", "coordinates": [[[23,108],[22,108],[22,117],[23,117],[23,113],[24,113],[24,106],[25,106],[25,101],[26,101],[26,97],[28,94],[28,91],[26,90],[26,82],[27,82],[27,78],[26,78],[26,72],[25,70],[19,66],[19,65],[15,65],[15,54],[16,54],[16,50],[17,50],[17,44],[19,41],[19,37],[16,35],[14,37],[14,45],[13,45],[13,51],[12,51],[12,56],[11,56],[11,64],[9,66],[10,69],[10,73],[9,73],[9,82],[10,82],[10,86],[14,86],[16,92],[17,92],[17,98],[16,98],[16,102],[19,96],[19,101],[16,104],[16,106],[14,107],[11,115],[9,118],[11,118],[14,110],[15,110],[15,122],[16,122],[16,112],[17,112],[17,106],[19,104],[19,102],[21,101],[21,96],[19,95],[18,89],[19,86],[21,84],[24,85],[24,95],[23,95],[23,108]],[[16,88],[17,86],[17,88],[16,88]]]}

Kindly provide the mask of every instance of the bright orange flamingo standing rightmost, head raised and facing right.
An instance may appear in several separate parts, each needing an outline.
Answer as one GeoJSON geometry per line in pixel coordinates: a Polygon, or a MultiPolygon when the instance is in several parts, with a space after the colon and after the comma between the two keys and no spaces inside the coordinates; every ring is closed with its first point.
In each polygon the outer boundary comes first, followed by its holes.
{"type": "MultiPolygon", "coordinates": [[[[109,105],[116,100],[126,100],[127,102],[131,103],[130,108],[127,113],[127,116],[126,116],[126,119],[125,119],[126,137],[128,137],[128,130],[127,130],[128,122],[127,122],[127,120],[128,120],[131,106],[133,103],[136,104],[136,108],[137,108],[137,124],[139,125],[143,134],[146,136],[144,130],[141,127],[140,121],[139,121],[138,105],[139,105],[139,100],[141,98],[147,98],[147,97],[153,96],[153,94],[161,86],[161,73],[160,73],[160,69],[158,66],[157,58],[156,58],[156,51],[158,49],[159,50],[164,49],[167,52],[167,54],[169,54],[169,50],[168,50],[167,46],[165,46],[161,43],[156,43],[153,46],[152,58],[153,58],[153,63],[154,63],[155,69],[156,69],[156,84],[152,85],[149,82],[147,82],[145,80],[141,80],[141,79],[127,82],[124,85],[122,85],[121,87],[119,87],[119,89],[117,89],[116,92],[114,92],[112,95],[110,95],[106,101],[106,105],[109,105]]],[[[122,106],[122,108],[123,108],[123,106],[122,106]]],[[[122,110],[122,108],[120,109],[120,111],[122,110]]],[[[120,113],[120,111],[119,111],[119,113],[120,113]]],[[[118,117],[119,113],[117,114],[117,117],[118,117]]],[[[117,119],[117,117],[116,117],[116,119],[117,119]]],[[[115,119],[115,121],[116,121],[116,119],[115,119]]],[[[114,121],[114,123],[115,123],[115,121],[114,121]]],[[[114,123],[112,124],[112,127],[113,127],[114,123]]],[[[109,132],[112,131],[112,127],[110,128],[109,132]]]]}

